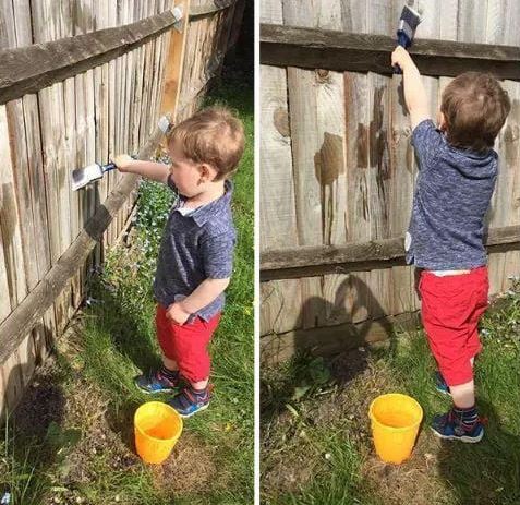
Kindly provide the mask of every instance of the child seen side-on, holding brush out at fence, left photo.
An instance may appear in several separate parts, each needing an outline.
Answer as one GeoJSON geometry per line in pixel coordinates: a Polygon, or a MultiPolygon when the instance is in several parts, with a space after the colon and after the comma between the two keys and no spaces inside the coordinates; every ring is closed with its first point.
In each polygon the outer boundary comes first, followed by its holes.
{"type": "Polygon", "coordinates": [[[235,230],[229,177],[242,157],[243,125],[228,110],[210,107],[176,125],[168,148],[170,166],[128,155],[113,163],[122,172],[168,184],[178,196],[154,282],[162,366],[135,382],[146,393],[180,388],[169,404],[180,416],[190,417],[209,405],[207,346],[232,272],[235,230]]]}

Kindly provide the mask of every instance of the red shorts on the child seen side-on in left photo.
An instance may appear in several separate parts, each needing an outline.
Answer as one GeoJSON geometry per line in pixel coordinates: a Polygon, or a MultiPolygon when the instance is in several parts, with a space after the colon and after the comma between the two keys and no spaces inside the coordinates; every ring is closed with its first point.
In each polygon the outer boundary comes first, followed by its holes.
{"type": "Polygon", "coordinates": [[[202,317],[183,325],[166,317],[166,309],[158,304],[155,323],[164,354],[177,362],[181,375],[189,382],[205,381],[209,376],[210,360],[207,346],[217,329],[220,314],[208,322],[202,317]]]}

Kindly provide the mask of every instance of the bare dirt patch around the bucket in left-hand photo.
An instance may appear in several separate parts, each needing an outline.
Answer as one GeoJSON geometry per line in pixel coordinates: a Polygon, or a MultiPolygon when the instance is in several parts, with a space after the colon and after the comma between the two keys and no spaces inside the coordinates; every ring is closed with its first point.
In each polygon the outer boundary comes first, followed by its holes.
{"type": "Polygon", "coordinates": [[[183,434],[182,444],[166,462],[144,467],[133,445],[134,406],[114,412],[102,392],[87,381],[76,356],[77,339],[70,332],[58,342],[61,360],[51,356],[36,371],[12,423],[20,449],[25,449],[28,442],[24,441],[31,441],[38,453],[32,456],[38,458],[37,472],[52,478],[56,491],[49,493],[46,503],[90,503],[80,490],[95,488],[100,468],[136,476],[145,468],[152,472],[156,489],[167,494],[198,493],[209,488],[217,474],[218,448],[202,444],[190,432],[183,434]],[[68,370],[61,368],[62,361],[68,370]],[[51,423],[63,431],[81,431],[80,441],[68,449],[64,460],[60,450],[46,442],[51,423]]]}

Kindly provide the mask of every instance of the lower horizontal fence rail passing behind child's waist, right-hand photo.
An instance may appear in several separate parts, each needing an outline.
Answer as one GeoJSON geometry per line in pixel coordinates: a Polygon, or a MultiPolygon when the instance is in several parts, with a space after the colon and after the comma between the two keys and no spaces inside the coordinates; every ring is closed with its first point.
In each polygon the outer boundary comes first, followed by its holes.
{"type": "MultiPolygon", "coordinates": [[[[510,245],[509,249],[520,249],[520,226],[491,229],[486,245],[488,248],[510,245]]],[[[402,237],[343,245],[303,245],[265,251],[261,260],[261,280],[316,276],[338,269],[350,272],[376,265],[380,267],[384,262],[392,266],[402,264],[403,257],[402,237]]]]}

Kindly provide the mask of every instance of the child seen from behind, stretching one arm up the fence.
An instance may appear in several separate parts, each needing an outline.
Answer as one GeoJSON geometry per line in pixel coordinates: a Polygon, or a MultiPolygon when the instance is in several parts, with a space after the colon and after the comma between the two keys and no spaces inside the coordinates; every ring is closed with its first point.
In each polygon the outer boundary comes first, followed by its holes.
{"type": "Polygon", "coordinates": [[[495,188],[493,145],[510,110],[492,75],[468,72],[443,93],[436,128],[421,75],[398,47],[391,64],[403,73],[419,176],[406,237],[407,262],[421,268],[421,316],[439,372],[437,388],[454,406],[433,420],[447,440],[479,442],[484,429],[475,407],[473,360],[481,351],[479,320],[487,306],[484,215],[495,188]]]}

